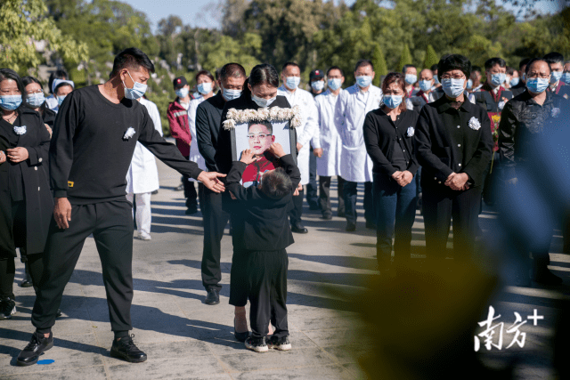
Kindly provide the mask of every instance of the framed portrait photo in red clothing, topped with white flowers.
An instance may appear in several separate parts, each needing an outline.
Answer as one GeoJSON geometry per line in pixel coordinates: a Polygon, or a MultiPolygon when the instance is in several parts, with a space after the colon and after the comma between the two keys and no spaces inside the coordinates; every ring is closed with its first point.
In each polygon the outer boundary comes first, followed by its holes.
{"type": "Polygon", "coordinates": [[[273,142],[279,142],[286,154],[293,153],[297,163],[296,125],[300,124],[298,108],[229,109],[224,128],[232,133],[232,160],[240,159],[243,150],[252,150],[256,161],[249,164],[241,176],[244,187],[256,186],[268,170],[279,167],[279,160],[269,152],[273,142]]]}

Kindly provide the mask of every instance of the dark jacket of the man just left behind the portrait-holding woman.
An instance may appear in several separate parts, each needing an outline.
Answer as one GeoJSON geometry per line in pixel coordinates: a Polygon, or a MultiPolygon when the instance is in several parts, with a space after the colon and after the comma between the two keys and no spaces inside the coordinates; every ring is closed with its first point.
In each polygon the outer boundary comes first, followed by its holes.
{"type": "Polygon", "coordinates": [[[216,166],[216,149],[220,125],[222,124],[222,111],[225,101],[222,92],[216,96],[202,101],[196,109],[196,138],[198,139],[199,154],[206,161],[208,172],[218,172],[216,166]]]}

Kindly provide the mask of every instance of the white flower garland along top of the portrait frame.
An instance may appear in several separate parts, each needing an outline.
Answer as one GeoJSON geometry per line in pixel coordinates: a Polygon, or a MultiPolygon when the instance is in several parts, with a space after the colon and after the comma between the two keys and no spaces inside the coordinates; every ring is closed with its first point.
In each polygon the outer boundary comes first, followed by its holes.
{"type": "Polygon", "coordinates": [[[301,126],[301,109],[295,106],[292,109],[272,107],[266,109],[228,109],[224,129],[231,130],[235,125],[249,123],[250,121],[287,121],[290,120],[291,129],[301,126]]]}

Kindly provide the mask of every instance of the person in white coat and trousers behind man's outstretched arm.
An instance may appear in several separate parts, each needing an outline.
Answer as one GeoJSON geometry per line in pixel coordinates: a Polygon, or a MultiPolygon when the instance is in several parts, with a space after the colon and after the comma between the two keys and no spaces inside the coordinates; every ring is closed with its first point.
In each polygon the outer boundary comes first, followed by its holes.
{"type": "MultiPolygon", "coordinates": [[[[154,128],[162,135],[157,105],[145,98],[140,98],[139,101],[149,111],[154,128]]],[[[133,199],[136,202],[138,235],[135,239],[151,240],[151,192],[154,190],[159,190],[157,161],[149,150],[137,142],[131,166],[126,172],[126,199],[131,203],[133,199]]]]}

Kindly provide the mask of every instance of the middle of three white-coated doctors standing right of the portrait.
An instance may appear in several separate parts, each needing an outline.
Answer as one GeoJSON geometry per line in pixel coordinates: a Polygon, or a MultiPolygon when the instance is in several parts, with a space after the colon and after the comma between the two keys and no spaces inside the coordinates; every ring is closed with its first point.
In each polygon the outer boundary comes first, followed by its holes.
{"type": "Polygon", "coordinates": [[[322,219],[332,219],[332,208],[330,206],[330,180],[333,175],[338,177],[338,216],[345,216],[344,183],[340,176],[340,151],[342,141],[338,135],[335,125],[335,107],[340,93],[341,86],[345,83],[345,74],[338,66],[332,66],[327,71],[327,84],[329,88],[324,93],[316,96],[314,102],[317,106],[319,128],[314,133],[311,143],[320,144],[319,151],[314,150],[317,156],[317,174],[319,174],[319,203],[322,210],[322,219]]]}

